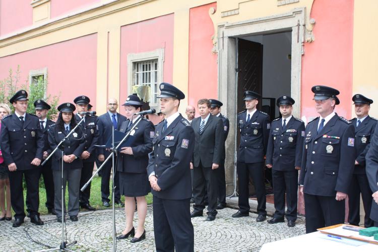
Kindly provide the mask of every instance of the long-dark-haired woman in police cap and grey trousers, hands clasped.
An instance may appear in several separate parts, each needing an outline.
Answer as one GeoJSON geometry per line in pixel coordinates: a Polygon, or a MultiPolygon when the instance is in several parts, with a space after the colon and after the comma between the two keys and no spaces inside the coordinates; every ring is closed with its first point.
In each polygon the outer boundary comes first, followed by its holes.
{"type": "MultiPolygon", "coordinates": [[[[58,119],[56,124],[52,125],[48,131],[48,142],[51,151],[56,148],[58,143],[67,137],[72,129],[76,126],[75,105],[72,103],[63,103],[58,106],[58,119]]],[[[84,151],[83,129],[78,127],[70,137],[62,144],[64,146],[63,153],[63,185],[64,196],[66,193],[66,184],[68,183],[68,214],[72,221],[78,220],[79,213],[79,191],[80,191],[80,175],[83,162],[80,159],[84,151]]],[[[57,150],[52,157],[52,174],[54,178],[55,200],[54,207],[56,211],[57,221],[61,222],[61,151],[57,150]]],[[[66,205],[66,204],[65,204],[66,205]]],[[[66,206],[65,206],[66,215],[66,206]]]]}

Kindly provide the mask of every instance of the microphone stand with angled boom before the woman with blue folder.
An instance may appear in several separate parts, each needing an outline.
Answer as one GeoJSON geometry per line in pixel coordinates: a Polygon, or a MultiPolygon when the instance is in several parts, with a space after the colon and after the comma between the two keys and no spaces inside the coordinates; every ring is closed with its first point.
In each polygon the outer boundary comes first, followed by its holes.
{"type": "Polygon", "coordinates": [[[104,167],[104,165],[107,163],[107,161],[111,158],[112,159],[112,163],[113,163],[113,167],[112,167],[112,172],[113,172],[113,185],[112,185],[112,196],[111,196],[111,199],[112,199],[112,221],[113,221],[113,231],[112,231],[112,236],[113,236],[113,252],[115,252],[115,207],[114,207],[114,189],[115,189],[115,186],[114,186],[114,176],[115,176],[115,169],[114,169],[114,153],[117,153],[118,151],[118,148],[122,145],[122,143],[127,140],[130,136],[130,133],[134,130],[135,127],[137,127],[137,125],[139,124],[139,122],[144,118],[144,115],[142,114],[135,123],[133,123],[133,126],[132,128],[130,129],[130,131],[126,134],[126,136],[123,137],[123,139],[118,143],[118,145],[116,147],[114,147],[114,125],[112,126],[112,148],[111,148],[111,153],[110,155],[105,159],[105,161],[102,163],[102,165],[97,168],[96,172],[92,175],[92,177],[83,185],[83,187],[80,189],[82,192],[85,190],[85,188],[87,188],[87,186],[89,185],[89,183],[92,181],[92,179],[96,176],[96,174],[102,169],[102,167],[104,167]]]}

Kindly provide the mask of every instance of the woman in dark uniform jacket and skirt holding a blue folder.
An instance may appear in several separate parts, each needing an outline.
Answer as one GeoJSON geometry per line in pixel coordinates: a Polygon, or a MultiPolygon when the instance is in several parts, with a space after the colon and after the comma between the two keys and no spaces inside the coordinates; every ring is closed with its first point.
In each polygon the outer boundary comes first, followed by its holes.
{"type": "MultiPolygon", "coordinates": [[[[138,96],[129,95],[123,106],[128,120],[122,122],[119,131],[128,133],[132,129],[133,123],[138,121],[140,117],[140,115],[134,114],[141,111],[142,103],[138,96]]],[[[125,239],[130,235],[134,235],[131,242],[138,242],[146,238],[144,222],[147,214],[147,201],[145,196],[151,192],[147,176],[147,165],[148,153],[152,151],[154,133],[152,122],[142,118],[130,132],[130,136],[135,138],[131,147],[122,147],[118,152],[119,192],[125,196],[126,227],[117,239],[125,239]],[[133,226],[134,197],[137,198],[139,219],[136,231],[133,226]]]]}

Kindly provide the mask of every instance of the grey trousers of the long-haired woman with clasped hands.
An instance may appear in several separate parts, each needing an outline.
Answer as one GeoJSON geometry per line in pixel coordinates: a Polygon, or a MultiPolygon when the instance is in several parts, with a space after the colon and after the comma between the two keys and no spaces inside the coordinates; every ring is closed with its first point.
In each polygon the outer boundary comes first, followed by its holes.
{"type": "MultiPolygon", "coordinates": [[[[56,217],[61,217],[61,171],[53,170],[55,186],[55,212],[56,217]]],[[[66,199],[66,184],[68,184],[68,214],[77,216],[79,213],[79,191],[80,191],[81,169],[63,169],[63,198],[66,199]]],[[[66,201],[64,202],[66,211],[66,201]]]]}

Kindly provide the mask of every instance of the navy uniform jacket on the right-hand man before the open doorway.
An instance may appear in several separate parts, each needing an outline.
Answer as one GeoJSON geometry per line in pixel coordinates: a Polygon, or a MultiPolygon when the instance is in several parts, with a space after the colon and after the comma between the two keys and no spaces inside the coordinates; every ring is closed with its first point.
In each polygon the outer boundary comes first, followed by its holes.
{"type": "Polygon", "coordinates": [[[267,149],[267,164],[272,169],[295,170],[302,161],[304,123],[292,116],[282,129],[282,117],[272,121],[267,149]]]}

